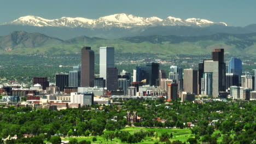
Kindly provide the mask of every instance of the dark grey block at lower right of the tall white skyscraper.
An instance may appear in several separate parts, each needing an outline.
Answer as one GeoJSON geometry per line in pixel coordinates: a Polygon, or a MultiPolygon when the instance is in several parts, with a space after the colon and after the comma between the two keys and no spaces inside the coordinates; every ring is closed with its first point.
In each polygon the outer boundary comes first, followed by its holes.
{"type": "Polygon", "coordinates": [[[117,91],[118,89],[118,69],[107,68],[106,87],[108,91],[117,91]]]}

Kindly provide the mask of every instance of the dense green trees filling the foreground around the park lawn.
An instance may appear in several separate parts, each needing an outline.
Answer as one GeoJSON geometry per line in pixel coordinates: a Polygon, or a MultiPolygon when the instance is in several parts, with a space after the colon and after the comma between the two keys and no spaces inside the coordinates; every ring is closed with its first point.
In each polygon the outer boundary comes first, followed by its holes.
{"type": "MultiPolygon", "coordinates": [[[[236,101],[225,103],[212,101],[205,104],[194,104],[186,101],[172,101],[172,105],[164,104],[164,100],[127,100],[123,107],[118,109],[116,105],[104,106],[99,110],[99,105],[81,109],[67,109],[61,111],[51,111],[46,109],[32,110],[25,108],[0,108],[0,137],[17,135],[17,143],[26,143],[27,139],[22,135],[33,134],[36,137],[29,140],[53,139],[51,135],[63,134],[68,136],[97,136],[102,135],[113,139],[118,137],[123,142],[139,142],[138,137],[152,136],[150,131],[141,131],[141,134],[124,134],[120,130],[127,123],[126,112],[136,111],[142,118],[142,122],[135,123],[139,127],[157,128],[185,128],[187,122],[196,124],[191,129],[195,138],[190,141],[217,142],[220,135],[212,135],[218,129],[224,134],[223,143],[250,143],[255,138],[255,101],[236,101]],[[152,119],[166,119],[165,123],[152,121],[152,119]],[[218,120],[214,126],[208,122],[218,120]],[[104,133],[104,130],[109,131],[104,133]],[[231,134],[235,136],[231,137],[231,134]],[[134,139],[133,139],[134,138],[134,139]],[[241,139],[242,138],[242,139],[241,139]],[[22,142],[23,141],[23,142],[22,142]]],[[[171,136],[161,135],[160,140],[165,141],[171,136]]]]}

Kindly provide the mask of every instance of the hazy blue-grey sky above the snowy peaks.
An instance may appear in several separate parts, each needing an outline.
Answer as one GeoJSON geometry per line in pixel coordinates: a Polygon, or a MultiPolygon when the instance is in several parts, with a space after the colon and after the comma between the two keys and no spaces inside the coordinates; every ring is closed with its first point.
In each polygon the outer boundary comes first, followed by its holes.
{"type": "Polygon", "coordinates": [[[256,23],[256,0],[2,0],[0,23],[21,16],[35,15],[45,19],[62,16],[97,19],[101,16],[126,13],[136,16],[191,17],[230,26],[256,23]]]}

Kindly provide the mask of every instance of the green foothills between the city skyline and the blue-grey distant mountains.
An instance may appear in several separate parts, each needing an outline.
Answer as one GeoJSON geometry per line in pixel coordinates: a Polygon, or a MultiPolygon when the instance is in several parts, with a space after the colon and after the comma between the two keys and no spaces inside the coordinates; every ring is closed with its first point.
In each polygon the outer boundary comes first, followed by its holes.
{"type": "Polygon", "coordinates": [[[0,37],[0,53],[77,53],[83,46],[98,52],[100,46],[114,46],[121,53],[154,53],[155,56],[210,54],[214,48],[224,48],[232,55],[255,55],[256,33],[181,37],[177,35],[150,35],[121,39],[102,39],[79,36],[68,40],[49,37],[40,33],[16,31],[0,37]]]}

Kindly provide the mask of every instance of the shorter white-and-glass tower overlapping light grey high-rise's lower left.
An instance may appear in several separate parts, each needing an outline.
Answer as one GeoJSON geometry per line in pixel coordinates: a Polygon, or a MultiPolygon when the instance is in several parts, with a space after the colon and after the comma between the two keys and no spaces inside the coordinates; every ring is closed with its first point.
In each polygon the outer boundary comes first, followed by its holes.
{"type": "Polygon", "coordinates": [[[201,94],[212,97],[212,73],[204,73],[201,78],[201,94]]]}

